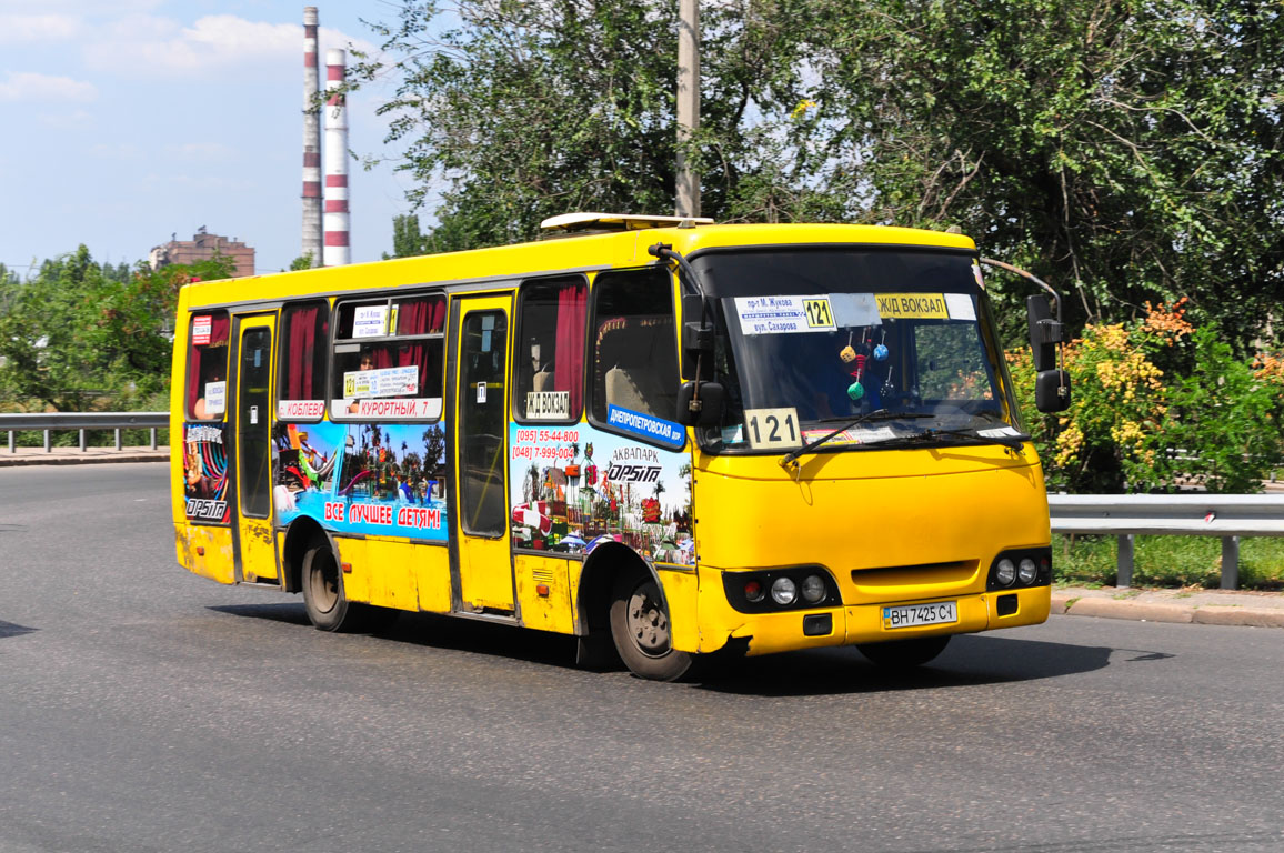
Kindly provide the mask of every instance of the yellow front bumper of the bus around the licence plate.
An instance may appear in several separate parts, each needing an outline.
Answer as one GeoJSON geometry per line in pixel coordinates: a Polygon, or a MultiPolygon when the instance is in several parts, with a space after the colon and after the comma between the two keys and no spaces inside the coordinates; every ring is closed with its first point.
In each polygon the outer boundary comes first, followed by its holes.
{"type": "MultiPolygon", "coordinates": [[[[701,595],[700,651],[716,651],[729,644],[749,641],[749,655],[764,655],[799,649],[889,642],[913,637],[975,633],[995,628],[1039,624],[1048,619],[1052,587],[1028,587],[959,595],[948,599],[912,599],[842,608],[787,610],[783,613],[740,613],[720,595],[701,595]],[[1000,601],[1002,599],[1002,601],[1000,601]],[[945,624],[891,628],[885,624],[883,608],[954,601],[958,618],[945,624]],[[1003,614],[1003,615],[1000,615],[1003,614]]],[[[706,590],[701,585],[701,591],[706,590]]]]}

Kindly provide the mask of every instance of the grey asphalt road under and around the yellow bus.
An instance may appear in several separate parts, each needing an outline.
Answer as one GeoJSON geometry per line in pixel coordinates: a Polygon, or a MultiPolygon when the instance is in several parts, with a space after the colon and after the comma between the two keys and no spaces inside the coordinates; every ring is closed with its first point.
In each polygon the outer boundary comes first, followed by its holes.
{"type": "Polygon", "coordinates": [[[0,470],[0,852],[1284,849],[1284,631],[1054,617],[704,683],[173,558],[166,465],[0,470]]]}

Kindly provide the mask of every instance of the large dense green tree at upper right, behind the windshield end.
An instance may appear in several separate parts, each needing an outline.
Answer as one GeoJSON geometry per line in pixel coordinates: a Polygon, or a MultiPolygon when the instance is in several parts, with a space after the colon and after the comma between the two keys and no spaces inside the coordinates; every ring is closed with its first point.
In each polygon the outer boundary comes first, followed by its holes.
{"type": "MultiPolygon", "coordinates": [[[[831,193],[959,225],[1120,321],[1189,295],[1240,355],[1284,295],[1284,14],[1248,0],[815,0],[831,193]]],[[[1003,285],[1000,285],[1003,286],[1003,285]]]]}

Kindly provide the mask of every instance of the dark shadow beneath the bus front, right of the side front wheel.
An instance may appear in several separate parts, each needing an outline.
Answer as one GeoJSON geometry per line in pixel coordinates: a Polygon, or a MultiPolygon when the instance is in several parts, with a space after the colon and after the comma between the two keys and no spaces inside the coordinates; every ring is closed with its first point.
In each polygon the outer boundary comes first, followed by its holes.
{"type": "Polygon", "coordinates": [[[1109,646],[960,635],[936,660],[882,669],[850,647],[745,658],[706,673],[700,687],[761,696],[883,692],[1055,678],[1109,665],[1109,646]]]}

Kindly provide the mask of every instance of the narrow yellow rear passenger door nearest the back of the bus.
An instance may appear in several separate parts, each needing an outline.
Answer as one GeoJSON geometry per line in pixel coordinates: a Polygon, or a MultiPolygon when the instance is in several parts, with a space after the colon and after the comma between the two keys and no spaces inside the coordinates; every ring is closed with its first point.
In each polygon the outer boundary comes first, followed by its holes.
{"type": "Polygon", "coordinates": [[[272,326],[271,316],[243,317],[236,331],[236,407],[232,429],[236,579],[275,578],[272,542],[272,326]]]}

